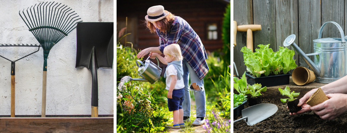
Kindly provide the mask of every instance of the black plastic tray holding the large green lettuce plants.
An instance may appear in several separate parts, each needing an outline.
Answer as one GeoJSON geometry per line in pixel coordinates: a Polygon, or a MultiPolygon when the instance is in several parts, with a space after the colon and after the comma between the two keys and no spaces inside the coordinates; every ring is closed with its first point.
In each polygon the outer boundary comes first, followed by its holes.
{"type": "Polygon", "coordinates": [[[267,76],[267,77],[253,77],[249,72],[246,72],[247,83],[249,85],[254,85],[256,83],[261,84],[261,87],[270,87],[278,85],[288,85],[289,76],[291,73],[267,76]]]}

